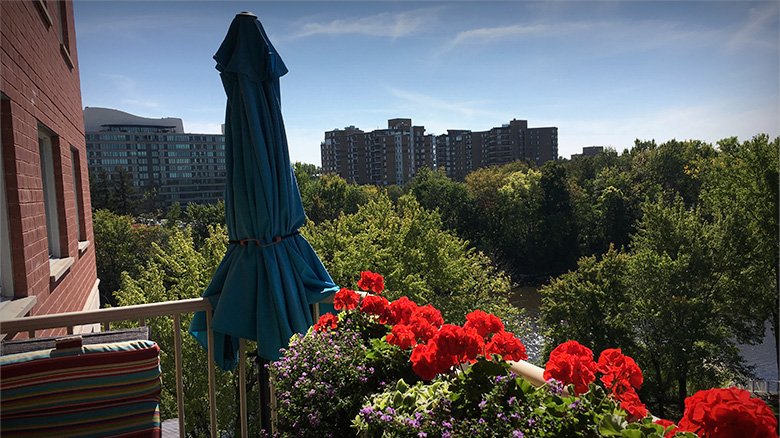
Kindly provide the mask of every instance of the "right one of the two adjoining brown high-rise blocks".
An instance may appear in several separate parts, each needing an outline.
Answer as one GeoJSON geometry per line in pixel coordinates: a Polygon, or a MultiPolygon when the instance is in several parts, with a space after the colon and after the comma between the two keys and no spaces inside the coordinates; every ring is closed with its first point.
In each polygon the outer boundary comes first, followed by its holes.
{"type": "Polygon", "coordinates": [[[448,130],[436,136],[436,167],[456,181],[481,167],[516,160],[541,166],[557,158],[558,128],[529,128],[525,120],[514,119],[488,131],[448,130]]]}

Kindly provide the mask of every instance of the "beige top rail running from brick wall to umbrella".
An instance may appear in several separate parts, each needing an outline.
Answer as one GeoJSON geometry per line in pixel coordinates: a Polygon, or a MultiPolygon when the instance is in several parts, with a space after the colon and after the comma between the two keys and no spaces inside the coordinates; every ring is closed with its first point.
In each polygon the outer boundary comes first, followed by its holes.
{"type": "Polygon", "coordinates": [[[19,333],[31,330],[110,323],[113,321],[139,320],[175,313],[193,313],[211,310],[206,298],[164,301],[160,303],[138,304],[134,306],[110,307],[107,309],[83,310],[79,312],[55,313],[51,315],[25,316],[0,322],[0,333],[19,333]]]}

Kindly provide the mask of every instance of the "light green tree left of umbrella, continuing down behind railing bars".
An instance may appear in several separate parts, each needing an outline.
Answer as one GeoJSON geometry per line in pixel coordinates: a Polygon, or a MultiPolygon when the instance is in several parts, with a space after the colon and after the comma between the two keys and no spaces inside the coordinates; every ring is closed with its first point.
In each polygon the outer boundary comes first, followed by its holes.
{"type": "MultiPolygon", "coordinates": [[[[224,226],[212,226],[200,250],[194,247],[194,241],[188,228],[173,228],[165,246],[153,243],[153,253],[140,272],[131,276],[123,274],[122,287],[116,292],[120,306],[174,301],[199,297],[211,281],[219,262],[227,248],[227,232],[224,226]]],[[[208,379],[206,378],[206,351],[186,334],[192,315],[181,316],[181,326],[174,328],[173,318],[151,318],[147,324],[151,327],[152,339],[160,346],[160,367],[162,369],[163,391],[160,396],[160,413],[163,419],[177,415],[174,330],[179,329],[182,336],[182,365],[184,397],[184,416],[187,419],[188,436],[208,436],[208,379]]],[[[253,343],[248,343],[251,349],[253,343]]],[[[217,424],[220,436],[237,436],[240,419],[238,408],[237,369],[232,372],[216,373],[217,424]]],[[[247,407],[249,413],[250,434],[259,436],[256,413],[258,397],[256,392],[257,367],[247,362],[247,407]]]]}

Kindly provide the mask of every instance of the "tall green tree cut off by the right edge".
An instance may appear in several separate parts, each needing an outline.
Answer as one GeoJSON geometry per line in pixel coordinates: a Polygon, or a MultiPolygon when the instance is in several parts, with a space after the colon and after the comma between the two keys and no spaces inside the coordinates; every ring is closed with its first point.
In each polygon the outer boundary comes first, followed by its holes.
{"type": "Polygon", "coordinates": [[[768,319],[775,347],[780,348],[780,137],[770,141],[768,136],[758,135],[743,143],[729,138],[718,145],[717,156],[703,157],[700,166],[688,169],[688,173],[701,181],[703,209],[722,229],[718,251],[727,262],[724,281],[737,292],[731,306],[734,323],[743,324],[739,339],[749,342],[760,338],[768,319]]]}

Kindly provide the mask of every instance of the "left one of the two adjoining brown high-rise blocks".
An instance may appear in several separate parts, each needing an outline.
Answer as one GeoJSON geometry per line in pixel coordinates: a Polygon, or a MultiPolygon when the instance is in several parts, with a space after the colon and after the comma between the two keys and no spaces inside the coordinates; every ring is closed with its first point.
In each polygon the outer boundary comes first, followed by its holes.
{"type": "Polygon", "coordinates": [[[412,126],[412,119],[390,119],[387,129],[371,132],[354,126],[327,131],[320,151],[323,173],[358,184],[402,186],[434,166],[433,135],[412,126]]]}

